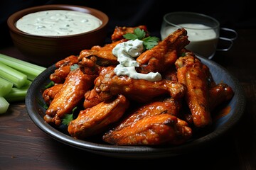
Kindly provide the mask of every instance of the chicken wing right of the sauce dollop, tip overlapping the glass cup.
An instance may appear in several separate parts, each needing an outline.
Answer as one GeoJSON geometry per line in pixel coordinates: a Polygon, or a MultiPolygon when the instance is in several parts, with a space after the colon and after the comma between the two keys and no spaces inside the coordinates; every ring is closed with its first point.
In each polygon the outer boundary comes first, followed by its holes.
{"type": "Polygon", "coordinates": [[[146,50],[137,57],[137,62],[140,64],[137,71],[140,73],[165,72],[176,62],[181,49],[188,43],[187,31],[183,28],[176,30],[151,50],[146,50]]]}

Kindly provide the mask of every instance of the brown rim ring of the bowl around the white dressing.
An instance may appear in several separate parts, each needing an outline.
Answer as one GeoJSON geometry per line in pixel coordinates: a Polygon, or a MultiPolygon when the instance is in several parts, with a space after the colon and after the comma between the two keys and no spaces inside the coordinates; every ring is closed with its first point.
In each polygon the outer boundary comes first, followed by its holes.
{"type": "Polygon", "coordinates": [[[41,6],[33,6],[30,8],[24,8],[20,11],[16,11],[15,13],[11,14],[9,18],[7,19],[7,25],[9,26],[9,29],[13,31],[14,33],[17,33],[19,35],[27,35],[32,36],[33,38],[70,38],[70,37],[78,37],[80,35],[87,35],[90,33],[95,33],[100,31],[102,28],[105,28],[107,24],[109,23],[109,17],[106,13],[99,11],[96,8],[90,8],[87,6],[78,6],[78,5],[69,5],[69,4],[49,4],[49,5],[41,5],[41,6]],[[30,33],[23,32],[22,30],[19,30],[16,28],[16,21],[18,21],[19,18],[22,16],[25,16],[28,13],[34,13],[38,11],[47,11],[47,10],[70,10],[70,11],[80,11],[83,13],[90,13],[93,16],[96,16],[102,21],[102,25],[100,27],[95,28],[94,30],[87,31],[85,33],[78,33],[73,35],[32,35],[30,33]]]}

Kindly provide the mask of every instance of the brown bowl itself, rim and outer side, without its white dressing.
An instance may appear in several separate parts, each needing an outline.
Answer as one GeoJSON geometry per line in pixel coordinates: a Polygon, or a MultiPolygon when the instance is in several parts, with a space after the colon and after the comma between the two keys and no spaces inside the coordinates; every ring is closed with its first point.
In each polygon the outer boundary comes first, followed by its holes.
{"type": "Polygon", "coordinates": [[[29,62],[43,67],[50,67],[69,55],[79,55],[81,50],[90,49],[94,45],[104,45],[108,23],[109,18],[102,11],[87,6],[66,4],[26,8],[13,13],[7,20],[11,38],[17,49],[29,62]],[[102,25],[85,33],[61,36],[31,35],[16,28],[16,21],[26,14],[47,10],[70,10],[90,13],[92,16],[99,18],[102,21],[102,25]]]}

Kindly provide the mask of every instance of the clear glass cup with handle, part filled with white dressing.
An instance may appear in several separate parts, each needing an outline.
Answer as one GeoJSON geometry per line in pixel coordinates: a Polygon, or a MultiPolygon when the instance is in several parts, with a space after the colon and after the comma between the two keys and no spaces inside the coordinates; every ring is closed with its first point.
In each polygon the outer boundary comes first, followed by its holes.
{"type": "Polygon", "coordinates": [[[186,49],[197,55],[213,58],[216,51],[228,51],[233,46],[233,40],[237,38],[235,30],[230,28],[220,28],[220,23],[210,16],[193,12],[173,12],[166,13],[161,25],[161,40],[164,40],[170,33],[178,28],[187,30],[188,40],[186,49]],[[230,32],[231,38],[220,37],[220,30],[230,32]],[[226,41],[224,47],[219,48],[218,42],[226,41]]]}

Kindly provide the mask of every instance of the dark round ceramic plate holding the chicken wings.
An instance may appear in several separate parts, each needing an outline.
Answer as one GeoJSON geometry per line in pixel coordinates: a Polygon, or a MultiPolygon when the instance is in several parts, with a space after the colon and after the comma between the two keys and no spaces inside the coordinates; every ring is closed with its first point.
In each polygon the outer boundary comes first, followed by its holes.
{"type": "Polygon", "coordinates": [[[59,142],[63,142],[66,145],[70,145],[79,149],[83,149],[87,152],[92,152],[95,154],[101,154],[110,157],[123,157],[123,158],[138,158],[138,159],[149,159],[149,158],[159,158],[159,157],[174,157],[176,155],[185,154],[196,149],[201,149],[210,145],[210,143],[219,139],[235,124],[240,120],[242,113],[245,110],[245,94],[238,82],[227,70],[221,67],[219,64],[207,60],[203,57],[199,57],[201,61],[210,68],[210,72],[213,74],[213,79],[216,83],[225,82],[230,85],[235,91],[235,96],[233,99],[227,103],[226,106],[230,108],[230,112],[218,118],[213,124],[212,130],[206,132],[204,135],[194,137],[183,145],[178,146],[158,146],[158,147],[140,147],[140,146],[115,146],[108,145],[102,142],[100,137],[90,140],[75,140],[73,137],[65,134],[62,130],[53,128],[43,120],[45,115],[45,109],[41,106],[41,101],[43,101],[41,91],[43,86],[50,82],[49,76],[54,72],[55,66],[51,66],[41,73],[31,84],[28,89],[26,96],[26,109],[28,114],[33,120],[33,122],[46,132],[46,134],[53,137],[59,142]]]}

